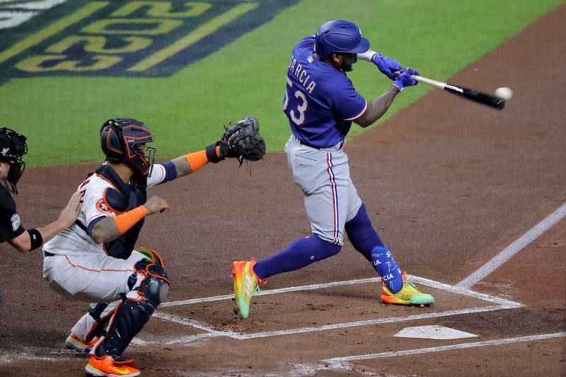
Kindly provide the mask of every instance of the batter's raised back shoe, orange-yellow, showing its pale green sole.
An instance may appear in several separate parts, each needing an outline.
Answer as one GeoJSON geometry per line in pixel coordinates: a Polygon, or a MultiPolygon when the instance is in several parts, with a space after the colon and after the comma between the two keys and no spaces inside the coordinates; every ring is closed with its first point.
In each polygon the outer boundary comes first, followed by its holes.
{"type": "Polygon", "coordinates": [[[267,283],[267,279],[261,280],[253,272],[253,266],[255,266],[255,259],[253,258],[232,263],[234,301],[236,301],[236,311],[243,320],[248,318],[250,313],[250,302],[253,294],[260,291],[258,284],[267,283]]]}

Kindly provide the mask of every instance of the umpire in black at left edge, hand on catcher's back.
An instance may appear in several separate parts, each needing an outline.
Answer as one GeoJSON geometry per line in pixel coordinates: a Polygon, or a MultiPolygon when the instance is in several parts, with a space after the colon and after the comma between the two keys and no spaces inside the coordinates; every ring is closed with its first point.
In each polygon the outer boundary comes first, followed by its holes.
{"type": "MultiPolygon", "coordinates": [[[[64,228],[74,224],[81,209],[81,195],[76,192],[57,221],[42,228],[25,229],[16,211],[14,195],[18,194],[16,183],[25,169],[23,155],[28,153],[25,136],[6,127],[0,128],[0,243],[8,242],[21,253],[39,248],[64,228]],[[4,183],[4,185],[1,185],[4,183]]],[[[0,304],[2,291],[0,290],[0,304]]]]}

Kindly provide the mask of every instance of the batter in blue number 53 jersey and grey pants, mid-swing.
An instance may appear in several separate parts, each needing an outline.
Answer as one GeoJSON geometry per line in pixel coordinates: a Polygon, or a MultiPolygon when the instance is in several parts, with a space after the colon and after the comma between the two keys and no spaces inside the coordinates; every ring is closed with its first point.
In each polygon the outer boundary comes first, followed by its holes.
{"type": "Polygon", "coordinates": [[[357,54],[371,51],[369,46],[354,23],[329,21],[293,49],[283,101],[291,127],[285,151],[294,181],[304,195],[312,235],[266,260],[233,262],[236,309],[242,319],[248,317],[258,284],[336,255],[342,248],[344,231],[381,276],[383,301],[420,306],[434,303],[431,295],[422,294],[406,280],[406,273],[371,226],[350,179],[344,145],[352,122],[360,127],[374,124],[403,88],[417,84],[411,75],[419,74],[382,54],[373,54],[371,62],[393,82],[385,93],[367,103],[346,72],[352,71],[357,54]]]}

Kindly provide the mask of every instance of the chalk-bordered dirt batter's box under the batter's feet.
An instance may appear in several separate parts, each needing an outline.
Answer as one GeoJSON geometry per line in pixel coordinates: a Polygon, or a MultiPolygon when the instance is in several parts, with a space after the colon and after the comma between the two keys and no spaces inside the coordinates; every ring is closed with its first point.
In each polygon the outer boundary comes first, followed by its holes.
{"type": "Polygon", "coordinates": [[[159,311],[156,311],[154,314],[156,318],[161,320],[189,327],[190,332],[188,335],[167,338],[151,337],[151,341],[144,340],[142,336],[141,339],[134,340],[134,344],[140,346],[155,343],[161,345],[187,344],[209,337],[253,339],[336,330],[345,327],[401,323],[449,315],[499,311],[524,306],[521,303],[504,298],[480,294],[470,289],[434,282],[422,277],[412,276],[410,279],[417,284],[437,289],[437,292],[432,292],[438,298],[437,304],[434,307],[395,307],[395,310],[400,309],[404,313],[408,313],[408,315],[399,315],[398,311],[393,313],[391,311],[393,306],[382,305],[376,301],[379,278],[292,286],[262,291],[255,299],[258,307],[255,309],[254,315],[261,317],[261,320],[256,320],[258,322],[254,322],[253,317],[250,317],[243,323],[240,320],[234,319],[231,313],[231,307],[233,306],[231,299],[233,295],[192,298],[190,300],[163,303],[159,307],[159,311]],[[311,291],[308,292],[308,299],[305,299],[305,291],[311,291]],[[269,295],[274,294],[291,295],[292,297],[285,297],[283,305],[279,300],[270,298],[269,295]],[[461,296],[466,296],[466,300],[462,300],[461,296]],[[290,301],[289,298],[291,298],[290,301]],[[371,299],[374,301],[369,301],[371,299]],[[371,302],[376,304],[371,304],[371,302]],[[287,315],[287,311],[289,311],[289,315],[287,315]],[[199,318],[200,320],[186,318],[186,313],[190,313],[192,318],[199,318]],[[393,316],[388,317],[388,314],[393,316]],[[270,315],[271,320],[265,318],[265,315],[270,315]],[[379,315],[381,317],[376,318],[379,315]],[[200,318],[201,316],[202,318],[200,318]],[[356,316],[359,318],[354,318],[356,316]],[[328,318],[352,318],[352,321],[333,323],[328,318]],[[313,320],[316,322],[313,322],[313,320]],[[324,325],[319,325],[320,323],[324,323],[324,325]],[[263,331],[253,332],[253,330],[257,331],[258,328],[263,331]],[[233,331],[234,329],[237,331],[233,331]]]}

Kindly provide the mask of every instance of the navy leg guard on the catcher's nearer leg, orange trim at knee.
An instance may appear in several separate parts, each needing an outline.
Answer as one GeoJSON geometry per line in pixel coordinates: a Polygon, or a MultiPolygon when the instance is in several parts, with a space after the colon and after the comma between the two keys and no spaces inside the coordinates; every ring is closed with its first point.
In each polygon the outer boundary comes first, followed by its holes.
{"type": "Polygon", "coordinates": [[[170,282],[163,260],[153,250],[149,253],[152,261],[144,258],[135,265],[137,272],[145,276],[137,289],[139,298],[122,294],[122,303],[114,312],[106,337],[96,347],[96,356],[120,356],[165,298],[170,282]]]}

